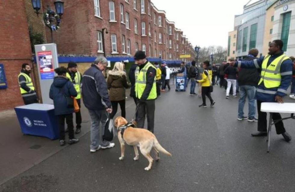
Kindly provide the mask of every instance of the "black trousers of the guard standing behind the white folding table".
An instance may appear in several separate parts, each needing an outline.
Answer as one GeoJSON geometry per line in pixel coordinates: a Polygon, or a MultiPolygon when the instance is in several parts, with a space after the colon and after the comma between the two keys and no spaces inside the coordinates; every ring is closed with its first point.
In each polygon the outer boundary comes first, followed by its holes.
{"type": "MultiPolygon", "coordinates": [[[[258,124],[257,124],[257,130],[262,132],[267,132],[267,119],[266,119],[266,112],[261,112],[261,103],[263,101],[257,100],[257,111],[258,111],[258,124]]],[[[281,115],[279,113],[273,113],[272,114],[272,120],[276,121],[281,119],[281,115]]],[[[284,128],[283,121],[279,121],[275,124],[275,130],[277,134],[282,134],[286,132],[284,128]]]]}

